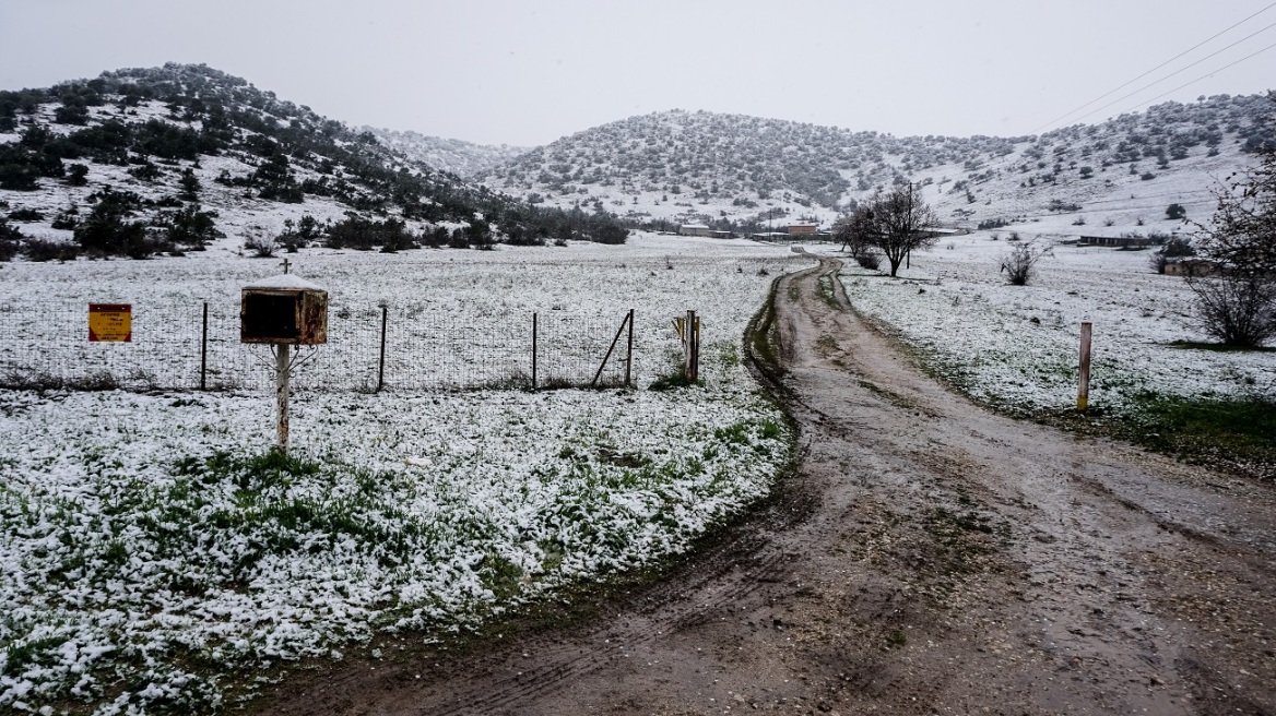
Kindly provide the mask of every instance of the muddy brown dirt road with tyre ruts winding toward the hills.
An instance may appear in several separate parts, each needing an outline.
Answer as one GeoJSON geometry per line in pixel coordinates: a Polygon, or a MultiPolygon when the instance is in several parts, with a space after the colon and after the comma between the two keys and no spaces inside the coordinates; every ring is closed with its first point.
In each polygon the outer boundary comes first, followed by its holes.
{"type": "Polygon", "coordinates": [[[588,624],[260,712],[1276,713],[1276,493],[971,405],[822,296],[837,268],[778,285],[803,462],[758,515],[588,624]]]}

